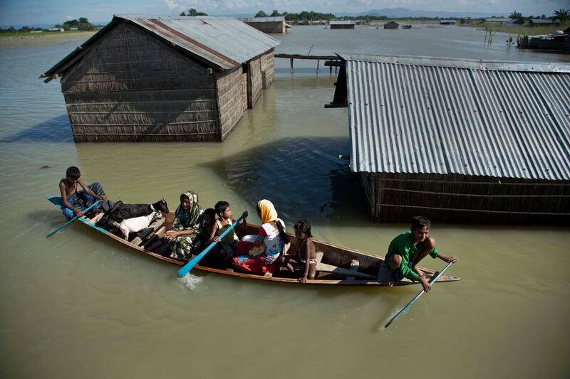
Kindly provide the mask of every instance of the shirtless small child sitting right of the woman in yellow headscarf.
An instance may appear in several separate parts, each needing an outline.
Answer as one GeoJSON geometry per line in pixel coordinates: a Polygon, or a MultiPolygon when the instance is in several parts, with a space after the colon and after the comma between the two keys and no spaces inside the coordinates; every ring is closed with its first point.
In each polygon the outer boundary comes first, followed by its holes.
{"type": "Polygon", "coordinates": [[[316,249],[315,244],[311,240],[311,221],[299,220],[294,226],[296,247],[295,255],[284,255],[281,257],[281,265],[284,265],[289,271],[294,272],[291,263],[302,263],[305,266],[303,276],[299,278],[299,283],[305,284],[307,279],[315,279],[316,274],[316,249]]]}

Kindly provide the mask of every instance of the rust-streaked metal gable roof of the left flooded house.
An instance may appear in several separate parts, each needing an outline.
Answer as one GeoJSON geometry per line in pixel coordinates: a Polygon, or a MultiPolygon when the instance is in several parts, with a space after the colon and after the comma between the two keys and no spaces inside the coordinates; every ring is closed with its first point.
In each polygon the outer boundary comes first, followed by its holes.
{"type": "Polygon", "coordinates": [[[120,14],[115,15],[107,26],[46,71],[42,77],[60,74],[66,63],[76,58],[120,22],[129,22],[145,28],[162,41],[223,70],[230,70],[246,63],[280,43],[275,38],[232,17],[158,17],[120,14]]]}

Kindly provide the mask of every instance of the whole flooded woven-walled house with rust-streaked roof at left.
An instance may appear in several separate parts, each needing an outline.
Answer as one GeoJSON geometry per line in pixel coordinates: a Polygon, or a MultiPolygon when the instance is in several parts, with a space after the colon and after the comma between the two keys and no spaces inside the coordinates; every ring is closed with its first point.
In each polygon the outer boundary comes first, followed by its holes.
{"type": "Polygon", "coordinates": [[[277,45],[237,18],[118,15],[41,76],[61,80],[76,142],[221,142],[277,45]]]}

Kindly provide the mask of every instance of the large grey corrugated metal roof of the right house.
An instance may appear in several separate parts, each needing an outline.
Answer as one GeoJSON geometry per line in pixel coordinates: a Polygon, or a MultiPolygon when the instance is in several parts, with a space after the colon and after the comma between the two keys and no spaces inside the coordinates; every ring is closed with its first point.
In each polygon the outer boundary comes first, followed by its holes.
{"type": "Polygon", "coordinates": [[[341,56],[352,171],[570,179],[570,65],[341,56]]]}

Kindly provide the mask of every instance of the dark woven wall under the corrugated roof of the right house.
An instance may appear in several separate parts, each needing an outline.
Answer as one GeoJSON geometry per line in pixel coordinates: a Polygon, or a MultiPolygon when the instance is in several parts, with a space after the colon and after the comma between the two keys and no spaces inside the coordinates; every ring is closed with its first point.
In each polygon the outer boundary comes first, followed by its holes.
{"type": "Polygon", "coordinates": [[[361,183],[378,221],[570,224],[570,181],[361,173],[361,183]]]}

